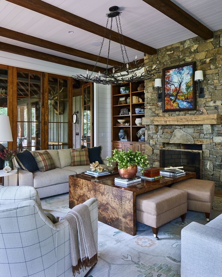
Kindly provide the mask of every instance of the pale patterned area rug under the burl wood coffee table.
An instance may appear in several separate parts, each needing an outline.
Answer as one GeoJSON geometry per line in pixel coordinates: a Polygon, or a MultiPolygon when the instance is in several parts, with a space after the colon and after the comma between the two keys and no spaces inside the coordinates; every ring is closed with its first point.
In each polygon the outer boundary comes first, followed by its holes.
{"type": "MultiPolygon", "coordinates": [[[[68,193],[41,199],[44,209],[67,212],[68,193]]],[[[211,219],[222,213],[222,198],[214,197],[211,219]]],[[[185,224],[180,218],[159,228],[156,240],[152,229],[137,224],[131,236],[98,222],[98,263],[88,277],[179,277],[181,230],[190,222],[206,224],[205,214],[188,211],[185,224]]]]}

